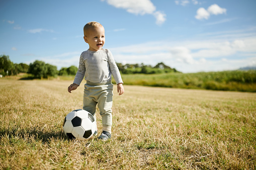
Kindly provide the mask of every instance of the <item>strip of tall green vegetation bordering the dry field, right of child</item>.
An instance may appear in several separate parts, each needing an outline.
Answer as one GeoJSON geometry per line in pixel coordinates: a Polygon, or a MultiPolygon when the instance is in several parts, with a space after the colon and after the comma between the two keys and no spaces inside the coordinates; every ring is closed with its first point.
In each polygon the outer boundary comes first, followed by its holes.
{"type": "Polygon", "coordinates": [[[123,74],[125,84],[256,92],[256,70],[199,73],[123,74]]]}

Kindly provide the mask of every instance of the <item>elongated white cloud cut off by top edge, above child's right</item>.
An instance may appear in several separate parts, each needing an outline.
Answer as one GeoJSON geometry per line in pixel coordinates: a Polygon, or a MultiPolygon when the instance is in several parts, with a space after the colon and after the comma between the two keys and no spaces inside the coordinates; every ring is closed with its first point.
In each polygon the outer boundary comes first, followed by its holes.
{"type": "MultiPolygon", "coordinates": [[[[104,1],[104,0],[102,0],[104,1]]],[[[156,11],[155,6],[150,0],[106,0],[106,2],[116,8],[125,9],[128,13],[135,15],[153,15],[156,19],[156,24],[164,23],[166,15],[156,11]]]]}

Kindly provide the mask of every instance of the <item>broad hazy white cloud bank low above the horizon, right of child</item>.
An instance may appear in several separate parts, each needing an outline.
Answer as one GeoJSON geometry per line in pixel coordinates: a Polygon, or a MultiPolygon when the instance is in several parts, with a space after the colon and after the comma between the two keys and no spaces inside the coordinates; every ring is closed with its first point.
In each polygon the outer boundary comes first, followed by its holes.
{"type": "Polygon", "coordinates": [[[110,50],[118,63],[155,66],[164,62],[184,73],[234,70],[256,61],[255,30],[215,32],[187,41],[146,42],[110,50]]]}

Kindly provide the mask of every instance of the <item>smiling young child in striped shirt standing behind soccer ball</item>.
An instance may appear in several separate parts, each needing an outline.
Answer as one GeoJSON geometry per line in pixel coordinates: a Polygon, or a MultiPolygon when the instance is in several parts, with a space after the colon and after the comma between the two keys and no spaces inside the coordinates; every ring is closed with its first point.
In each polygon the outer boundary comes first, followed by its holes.
{"type": "MultiPolygon", "coordinates": [[[[103,131],[98,139],[107,140],[111,138],[112,126],[113,84],[111,75],[116,81],[119,95],[124,93],[123,81],[112,53],[102,48],[105,44],[104,27],[97,22],[87,23],[83,27],[83,35],[84,41],[89,44],[89,49],[81,53],[73,84],[68,87],[67,91],[71,93],[75,90],[85,77],[87,83],[84,84],[83,110],[94,115],[96,120],[95,112],[98,104],[103,125],[103,131]]],[[[98,130],[95,135],[97,132],[98,130]]]]}

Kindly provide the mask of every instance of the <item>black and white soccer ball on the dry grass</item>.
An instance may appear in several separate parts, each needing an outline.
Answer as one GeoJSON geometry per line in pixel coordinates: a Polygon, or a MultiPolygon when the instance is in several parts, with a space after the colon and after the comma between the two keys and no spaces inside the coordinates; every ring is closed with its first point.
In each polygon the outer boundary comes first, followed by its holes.
{"type": "Polygon", "coordinates": [[[63,122],[65,136],[70,139],[89,139],[96,130],[94,116],[86,110],[77,109],[68,113],[63,122]]]}

